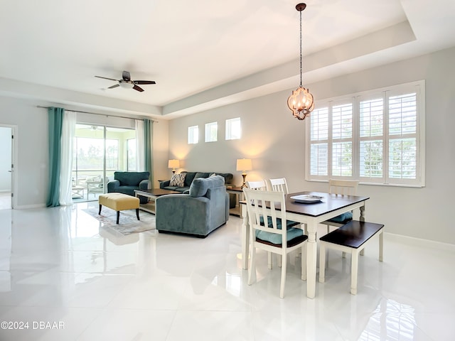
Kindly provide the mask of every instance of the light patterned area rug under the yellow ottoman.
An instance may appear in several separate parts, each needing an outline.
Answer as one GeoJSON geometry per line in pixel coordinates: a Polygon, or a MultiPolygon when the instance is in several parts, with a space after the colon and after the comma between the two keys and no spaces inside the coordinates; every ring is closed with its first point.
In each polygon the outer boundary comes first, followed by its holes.
{"type": "Polygon", "coordinates": [[[98,215],[98,207],[89,207],[85,210],[88,215],[102,222],[104,229],[111,229],[114,232],[127,236],[132,233],[150,231],[156,229],[155,216],[149,212],[139,210],[139,219],[136,217],[136,210],[120,211],[119,224],[117,221],[117,211],[109,207],[102,207],[101,215],[98,215]]]}

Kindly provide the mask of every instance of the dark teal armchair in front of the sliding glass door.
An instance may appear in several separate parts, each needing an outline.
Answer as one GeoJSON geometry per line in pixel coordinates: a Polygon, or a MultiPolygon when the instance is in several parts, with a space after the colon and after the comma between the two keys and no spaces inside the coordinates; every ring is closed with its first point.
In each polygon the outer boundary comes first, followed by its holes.
{"type": "MultiPolygon", "coordinates": [[[[123,193],[134,196],[134,190],[149,188],[149,172],[114,172],[114,180],[107,183],[107,193],[123,193]]],[[[147,197],[139,197],[141,204],[147,202],[147,197]]]]}

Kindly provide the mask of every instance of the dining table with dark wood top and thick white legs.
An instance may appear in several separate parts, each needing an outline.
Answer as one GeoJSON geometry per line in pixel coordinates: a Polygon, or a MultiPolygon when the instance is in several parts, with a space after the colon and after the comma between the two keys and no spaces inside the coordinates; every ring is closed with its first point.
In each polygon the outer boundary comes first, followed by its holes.
{"type": "MultiPolygon", "coordinates": [[[[365,221],[365,202],[370,197],[358,195],[339,195],[331,193],[304,191],[289,193],[286,197],[286,218],[301,224],[306,224],[308,242],[306,247],[306,296],[316,296],[316,259],[318,225],[345,212],[360,210],[359,220],[365,221]],[[315,200],[300,200],[301,198],[315,200]],[[316,200],[319,198],[319,200],[316,200]]],[[[243,200],[240,205],[245,205],[243,200]]],[[[250,224],[246,207],[242,210],[242,268],[248,269],[250,254],[250,224]]],[[[302,255],[303,256],[303,255],[302,255]]]]}

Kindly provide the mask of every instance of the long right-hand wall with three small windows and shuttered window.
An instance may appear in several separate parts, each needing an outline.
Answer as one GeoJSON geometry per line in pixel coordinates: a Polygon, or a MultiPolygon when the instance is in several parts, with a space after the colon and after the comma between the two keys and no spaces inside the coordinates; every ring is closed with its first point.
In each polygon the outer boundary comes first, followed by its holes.
{"type": "MultiPolygon", "coordinates": [[[[455,244],[451,206],[455,190],[455,48],[412,58],[363,72],[306,85],[316,101],[396,85],[426,80],[426,187],[392,188],[360,185],[358,194],[368,195],[366,217],[382,222],[386,231],[410,237],[455,244]]],[[[296,85],[297,86],[297,85],[296,85]]],[[[183,160],[188,171],[240,172],[235,159],[252,158],[253,171],[247,180],[285,176],[289,190],[326,190],[326,183],[304,180],[304,125],[291,117],[287,97],[291,90],[231,104],[208,112],[175,119],[169,124],[169,158],[183,160]],[[225,141],[225,119],[242,118],[241,140],[225,141]],[[187,128],[218,121],[218,142],[189,146],[187,128]]]]}

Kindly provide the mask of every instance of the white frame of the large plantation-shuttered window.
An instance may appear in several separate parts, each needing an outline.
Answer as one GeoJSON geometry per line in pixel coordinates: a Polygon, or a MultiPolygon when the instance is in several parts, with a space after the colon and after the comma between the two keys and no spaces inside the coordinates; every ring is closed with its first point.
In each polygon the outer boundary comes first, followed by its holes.
{"type": "MultiPolygon", "coordinates": [[[[400,107],[400,108],[403,108],[400,107]]],[[[365,125],[364,125],[365,126],[365,125]]],[[[403,127],[403,123],[400,123],[400,127],[403,127]]],[[[425,81],[419,80],[416,82],[408,82],[401,85],[393,85],[390,87],[384,87],[375,90],[368,90],[364,92],[358,92],[355,94],[348,94],[342,97],[333,97],[331,99],[320,100],[316,102],[315,109],[311,113],[309,120],[306,120],[306,155],[305,155],[305,180],[306,181],[328,181],[330,178],[341,179],[341,180],[359,180],[362,184],[368,185],[387,185],[387,186],[401,186],[401,187],[424,187],[425,186],[425,81]],[[397,136],[390,134],[390,107],[389,99],[394,96],[401,96],[405,94],[415,93],[415,132],[414,134],[407,133],[397,136]],[[365,104],[373,99],[378,99],[378,95],[381,94],[382,98],[382,134],[374,135],[370,137],[361,136],[360,134],[360,103],[365,104]],[[332,175],[333,174],[333,107],[338,103],[351,102],[353,104],[353,116],[352,116],[352,175],[332,175]],[[319,121],[323,120],[323,110],[327,109],[327,130],[323,129],[325,126],[320,124],[319,129],[316,129],[315,124],[319,124],[319,121]],[[316,114],[320,112],[321,114],[316,114]],[[317,123],[314,123],[314,131],[311,132],[311,119],[318,119],[317,123]],[[322,128],[321,128],[322,127],[322,128]],[[313,135],[311,135],[313,134],[313,135]],[[327,136],[325,135],[327,134],[327,136]],[[320,138],[322,136],[322,138],[320,138]],[[393,140],[405,140],[407,136],[415,139],[415,178],[392,178],[390,176],[389,160],[390,160],[390,141],[393,140]],[[323,139],[326,137],[326,139],[323,139]],[[360,166],[364,166],[360,158],[360,146],[362,141],[382,141],[382,176],[360,176],[360,166]],[[313,143],[311,143],[313,142],[313,143]],[[326,146],[324,146],[326,144],[326,146]],[[326,147],[326,166],[327,173],[311,175],[311,151],[318,151],[316,157],[318,161],[317,165],[313,165],[313,171],[319,172],[324,168],[318,168],[319,161],[323,160],[324,147],[326,147]],[[321,152],[320,152],[321,150],[321,152]],[[320,156],[321,155],[321,156],[320,156]]],[[[403,176],[403,173],[402,173],[403,176]]]]}

